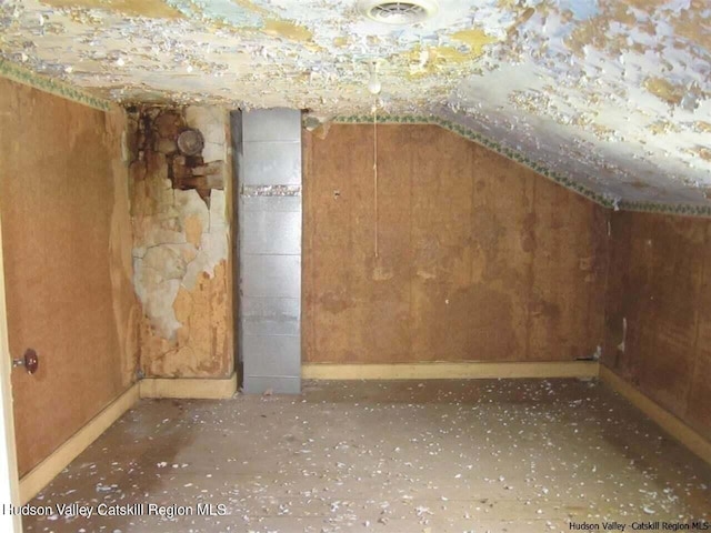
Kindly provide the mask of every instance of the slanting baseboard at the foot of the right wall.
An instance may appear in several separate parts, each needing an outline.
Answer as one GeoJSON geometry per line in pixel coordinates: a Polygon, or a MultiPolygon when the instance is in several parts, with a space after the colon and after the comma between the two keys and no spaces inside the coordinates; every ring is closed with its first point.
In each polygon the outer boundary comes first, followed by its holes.
{"type": "Polygon", "coordinates": [[[637,409],[652,419],[667,433],[681,442],[684,446],[711,464],[711,442],[687,425],[667,409],[648,398],[645,394],[628,383],[604,365],[600,365],[600,379],[632,403],[637,409]]]}

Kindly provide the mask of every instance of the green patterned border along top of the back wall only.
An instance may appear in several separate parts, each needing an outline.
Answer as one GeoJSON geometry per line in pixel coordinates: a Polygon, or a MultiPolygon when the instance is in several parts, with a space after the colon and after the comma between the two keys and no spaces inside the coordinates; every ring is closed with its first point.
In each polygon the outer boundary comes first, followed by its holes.
{"type": "MultiPolygon", "coordinates": [[[[372,124],[373,117],[368,114],[353,114],[348,117],[336,117],[333,122],[342,124],[372,124]]],[[[580,183],[577,183],[573,179],[565,175],[561,175],[558,172],[553,172],[538,161],[532,161],[517,150],[503,147],[502,144],[492,141],[491,139],[478,133],[465,125],[452,122],[450,120],[442,119],[435,115],[423,114],[407,114],[407,115],[382,115],[378,117],[379,123],[384,124],[430,124],[439,125],[452,133],[455,133],[464,139],[481,144],[482,147],[503,155],[511,161],[515,161],[519,164],[528,167],[532,171],[554,181],[555,183],[569,189],[578,194],[585,197],[604,208],[612,209],[614,207],[614,200],[605,194],[598,193],[580,183]]]]}

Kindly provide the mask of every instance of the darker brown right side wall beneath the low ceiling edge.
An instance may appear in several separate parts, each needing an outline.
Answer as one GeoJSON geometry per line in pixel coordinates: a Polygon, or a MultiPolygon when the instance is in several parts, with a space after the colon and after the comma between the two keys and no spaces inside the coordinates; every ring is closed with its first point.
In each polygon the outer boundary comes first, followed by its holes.
{"type": "Polygon", "coordinates": [[[710,250],[709,220],[612,215],[603,364],[711,440],[710,250]]]}

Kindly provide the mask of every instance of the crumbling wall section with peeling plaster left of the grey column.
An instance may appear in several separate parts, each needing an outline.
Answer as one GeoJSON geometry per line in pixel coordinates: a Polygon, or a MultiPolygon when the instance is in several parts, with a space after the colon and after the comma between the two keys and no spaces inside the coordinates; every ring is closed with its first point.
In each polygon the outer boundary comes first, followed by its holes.
{"type": "Polygon", "coordinates": [[[213,107],[142,107],[131,110],[130,119],[141,370],[149,378],[229,376],[229,113],[213,107]],[[187,129],[202,133],[198,157],[187,158],[178,149],[187,129]],[[193,174],[198,181],[186,178],[193,174]]]}

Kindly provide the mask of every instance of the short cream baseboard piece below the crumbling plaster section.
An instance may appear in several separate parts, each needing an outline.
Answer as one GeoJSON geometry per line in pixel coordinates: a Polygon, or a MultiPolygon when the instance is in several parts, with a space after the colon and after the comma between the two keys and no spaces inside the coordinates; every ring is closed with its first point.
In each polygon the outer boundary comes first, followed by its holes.
{"type": "Polygon", "coordinates": [[[140,388],[141,398],[224,400],[237,392],[237,372],[224,380],[147,378],[140,388]]]}

